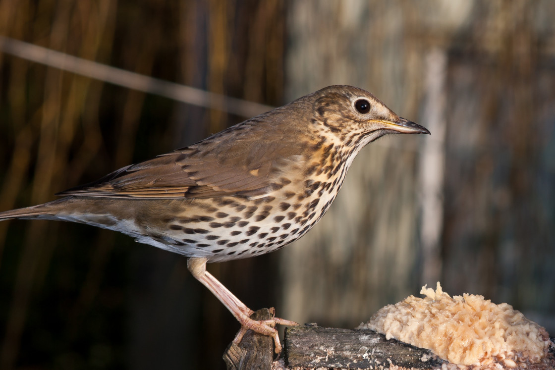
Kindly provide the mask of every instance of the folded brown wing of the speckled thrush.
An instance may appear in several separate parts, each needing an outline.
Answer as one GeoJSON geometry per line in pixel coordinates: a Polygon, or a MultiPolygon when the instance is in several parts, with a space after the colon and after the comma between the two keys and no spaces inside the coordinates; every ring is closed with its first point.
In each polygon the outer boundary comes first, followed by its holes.
{"type": "Polygon", "coordinates": [[[306,146],[279,129],[254,120],[221,131],[187,148],[119,169],[58,195],[195,198],[259,196],[276,176],[302,161],[306,146]]]}

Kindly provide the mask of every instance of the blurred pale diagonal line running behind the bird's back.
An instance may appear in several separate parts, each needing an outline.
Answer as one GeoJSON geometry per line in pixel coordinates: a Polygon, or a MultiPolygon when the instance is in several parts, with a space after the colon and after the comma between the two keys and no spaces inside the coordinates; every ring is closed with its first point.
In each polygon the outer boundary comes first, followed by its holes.
{"type": "Polygon", "coordinates": [[[125,88],[160,95],[177,100],[178,102],[198,105],[199,107],[218,109],[246,118],[274,108],[269,105],[210,93],[205,90],[110,67],[109,65],[93,62],[92,60],[74,57],[73,55],[60,53],[52,49],[4,36],[0,36],[0,52],[125,88]]]}

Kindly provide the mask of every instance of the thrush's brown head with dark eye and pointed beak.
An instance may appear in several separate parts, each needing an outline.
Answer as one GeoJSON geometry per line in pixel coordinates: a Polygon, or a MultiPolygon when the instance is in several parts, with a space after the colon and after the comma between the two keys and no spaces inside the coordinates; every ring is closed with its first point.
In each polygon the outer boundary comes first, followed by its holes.
{"type": "Polygon", "coordinates": [[[374,95],[356,87],[334,85],[311,95],[312,124],[320,134],[334,137],[355,151],[387,133],[430,134],[423,126],[401,118],[374,95]]]}

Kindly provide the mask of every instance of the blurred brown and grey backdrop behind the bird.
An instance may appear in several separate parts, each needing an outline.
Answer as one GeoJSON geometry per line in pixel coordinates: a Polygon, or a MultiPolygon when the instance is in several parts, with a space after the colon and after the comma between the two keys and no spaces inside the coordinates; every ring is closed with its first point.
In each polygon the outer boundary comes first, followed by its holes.
{"type": "MultiPolygon", "coordinates": [[[[441,281],[553,336],[553,14],[549,0],[0,0],[0,36],[271,106],[331,84],[369,90],[432,135],[369,145],[307,236],[209,271],[250,308],[301,323],[353,328],[441,281]]],[[[0,210],[249,115],[0,45],[0,210]]],[[[239,329],[183,257],[86,225],[0,222],[0,297],[2,369],[224,368],[239,329]]]]}

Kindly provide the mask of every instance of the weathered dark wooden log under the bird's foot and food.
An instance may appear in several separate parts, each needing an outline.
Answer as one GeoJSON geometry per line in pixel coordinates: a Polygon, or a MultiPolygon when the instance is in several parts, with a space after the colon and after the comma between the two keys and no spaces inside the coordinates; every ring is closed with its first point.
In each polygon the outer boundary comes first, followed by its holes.
{"type": "MultiPolygon", "coordinates": [[[[269,310],[259,310],[251,316],[255,320],[271,318],[269,310]],[[259,315],[259,316],[255,316],[259,315]]],[[[552,338],[555,343],[555,339],[552,338]]],[[[324,328],[316,324],[285,328],[284,351],[278,361],[273,359],[273,340],[270,337],[246,332],[239,346],[231,343],[224,355],[230,370],[339,370],[339,369],[411,369],[440,370],[457,368],[427,349],[386,340],[371,330],[324,328]]],[[[503,367],[502,363],[495,368],[503,367]]],[[[527,370],[555,369],[555,347],[541,363],[527,364],[527,370]]]]}

